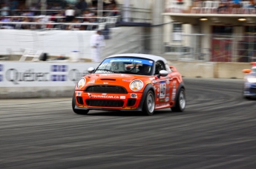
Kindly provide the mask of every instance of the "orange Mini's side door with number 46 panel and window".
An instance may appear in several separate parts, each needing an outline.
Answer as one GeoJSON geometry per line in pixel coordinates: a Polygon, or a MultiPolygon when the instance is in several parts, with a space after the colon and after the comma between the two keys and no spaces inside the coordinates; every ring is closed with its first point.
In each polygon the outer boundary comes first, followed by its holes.
{"type": "MultiPolygon", "coordinates": [[[[165,64],[163,61],[157,61],[155,64],[155,73],[158,75],[160,70],[166,70],[165,64]]],[[[173,83],[171,83],[171,72],[166,77],[160,77],[157,80],[154,80],[155,88],[155,103],[156,108],[170,106],[171,94],[173,89],[173,83]]]]}

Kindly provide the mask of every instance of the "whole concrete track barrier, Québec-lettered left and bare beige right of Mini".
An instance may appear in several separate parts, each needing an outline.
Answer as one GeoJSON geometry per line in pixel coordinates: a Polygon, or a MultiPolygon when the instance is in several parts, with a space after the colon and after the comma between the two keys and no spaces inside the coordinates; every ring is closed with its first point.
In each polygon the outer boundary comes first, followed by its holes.
{"type": "MultiPolygon", "coordinates": [[[[183,77],[243,79],[250,63],[168,61],[183,77]]],[[[76,81],[99,63],[0,62],[0,99],[71,97],[76,81]]]]}

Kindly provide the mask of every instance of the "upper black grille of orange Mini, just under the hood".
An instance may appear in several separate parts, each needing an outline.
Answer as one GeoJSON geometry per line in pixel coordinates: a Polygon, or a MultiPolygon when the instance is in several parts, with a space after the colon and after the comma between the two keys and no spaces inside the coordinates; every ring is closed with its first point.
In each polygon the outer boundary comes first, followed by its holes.
{"type": "Polygon", "coordinates": [[[128,92],[122,86],[88,86],[85,92],[93,93],[119,93],[127,94],[128,92]]]}

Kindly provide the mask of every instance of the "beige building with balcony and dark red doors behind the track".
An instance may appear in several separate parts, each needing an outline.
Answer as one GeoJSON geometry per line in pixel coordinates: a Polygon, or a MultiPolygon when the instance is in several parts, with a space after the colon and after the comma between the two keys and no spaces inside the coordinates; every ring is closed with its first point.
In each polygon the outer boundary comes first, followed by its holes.
{"type": "Polygon", "coordinates": [[[255,61],[255,7],[220,1],[165,1],[165,53],[203,61],[255,61]]]}

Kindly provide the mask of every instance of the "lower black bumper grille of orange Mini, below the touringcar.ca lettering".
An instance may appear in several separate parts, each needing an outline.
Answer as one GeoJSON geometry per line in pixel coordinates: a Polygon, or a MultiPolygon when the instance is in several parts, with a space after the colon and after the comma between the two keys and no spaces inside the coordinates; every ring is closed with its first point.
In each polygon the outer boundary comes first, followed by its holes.
{"type": "Polygon", "coordinates": [[[122,100],[87,99],[86,104],[88,106],[98,106],[98,107],[122,107],[124,104],[124,101],[122,101],[122,100]]]}

